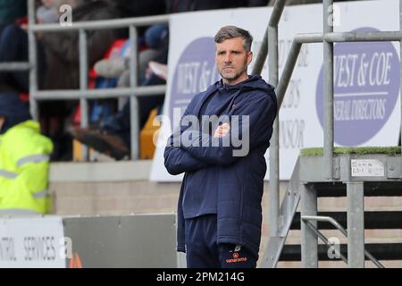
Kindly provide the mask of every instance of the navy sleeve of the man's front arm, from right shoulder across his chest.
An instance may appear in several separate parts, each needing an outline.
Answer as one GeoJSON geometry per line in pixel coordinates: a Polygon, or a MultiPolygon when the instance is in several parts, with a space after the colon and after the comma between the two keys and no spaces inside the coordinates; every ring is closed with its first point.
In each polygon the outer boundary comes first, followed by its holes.
{"type": "Polygon", "coordinates": [[[181,145],[181,148],[207,164],[229,165],[237,162],[255,147],[264,142],[269,144],[277,113],[274,97],[255,96],[239,103],[230,114],[230,132],[222,138],[213,138],[199,130],[185,130],[181,137],[191,144],[181,145]]]}

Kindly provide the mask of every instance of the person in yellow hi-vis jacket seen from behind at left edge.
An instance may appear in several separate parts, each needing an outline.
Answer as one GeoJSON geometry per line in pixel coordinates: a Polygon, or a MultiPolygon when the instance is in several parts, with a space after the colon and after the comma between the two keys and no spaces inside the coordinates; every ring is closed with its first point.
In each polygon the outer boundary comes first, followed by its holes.
{"type": "Polygon", "coordinates": [[[31,120],[29,106],[0,94],[0,216],[46,214],[50,139],[31,120]]]}

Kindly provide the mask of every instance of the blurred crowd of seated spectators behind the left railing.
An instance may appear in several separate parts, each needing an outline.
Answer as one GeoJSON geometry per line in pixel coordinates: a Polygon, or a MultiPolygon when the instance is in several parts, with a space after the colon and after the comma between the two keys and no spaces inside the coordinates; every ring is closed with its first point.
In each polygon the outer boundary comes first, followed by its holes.
{"type": "MultiPolygon", "coordinates": [[[[288,0],[287,4],[321,3],[288,0]]],[[[72,21],[99,21],[190,11],[255,7],[273,0],[42,0],[36,1],[38,23],[60,21],[60,7],[72,7],[72,21]]],[[[27,62],[29,54],[26,0],[0,0],[0,63],[27,62]]],[[[77,31],[37,33],[38,88],[80,88],[77,31]]],[[[88,88],[130,87],[128,29],[88,30],[88,88]]],[[[163,85],[167,80],[168,24],[138,28],[138,85],[163,85]]],[[[0,71],[0,94],[29,101],[29,72],[0,71]]],[[[164,95],[138,97],[139,129],[160,113],[164,95]]],[[[89,101],[89,124],[80,128],[78,101],[40,102],[42,133],[54,143],[53,161],[71,161],[73,140],[121,160],[130,157],[130,105],[127,98],[89,101]]],[[[142,158],[152,157],[143,152],[142,158]]]]}

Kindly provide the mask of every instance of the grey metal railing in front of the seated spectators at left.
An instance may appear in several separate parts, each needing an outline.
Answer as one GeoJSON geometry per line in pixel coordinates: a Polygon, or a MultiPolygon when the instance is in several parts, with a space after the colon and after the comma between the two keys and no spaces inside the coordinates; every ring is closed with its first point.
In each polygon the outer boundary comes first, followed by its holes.
{"type": "MultiPolygon", "coordinates": [[[[170,15],[127,18],[105,21],[73,22],[71,26],[60,24],[36,24],[35,0],[28,1],[29,11],[29,63],[3,63],[0,70],[29,70],[29,105],[33,118],[38,119],[38,101],[43,100],[80,100],[81,127],[88,127],[88,99],[130,97],[130,134],[131,159],[138,159],[138,97],[153,96],[165,93],[166,86],[138,87],[138,33],[137,27],[168,22],[170,15]],[[94,29],[130,30],[130,88],[88,89],[88,46],[87,31],[94,29]],[[77,31],[79,33],[80,52],[80,89],[75,90],[38,90],[37,69],[37,42],[35,34],[38,32],[65,32],[77,31]]],[[[88,159],[88,148],[83,147],[83,157],[88,159]]]]}

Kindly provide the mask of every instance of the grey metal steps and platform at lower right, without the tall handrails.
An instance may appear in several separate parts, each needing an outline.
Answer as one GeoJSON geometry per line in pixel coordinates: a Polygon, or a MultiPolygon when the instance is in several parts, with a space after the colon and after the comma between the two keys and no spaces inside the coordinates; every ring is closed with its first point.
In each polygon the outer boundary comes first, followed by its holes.
{"type": "Polygon", "coordinates": [[[349,267],[364,267],[364,260],[372,260],[377,267],[383,267],[379,260],[402,260],[402,243],[364,244],[364,230],[402,229],[402,211],[364,211],[364,197],[402,197],[400,156],[335,155],[336,178],[333,181],[323,178],[322,160],[322,156],[300,156],[297,160],[281,204],[279,235],[270,238],[263,267],[275,267],[279,261],[302,261],[304,267],[317,267],[318,261],[330,260],[344,260],[349,267]],[[363,177],[364,172],[373,169],[366,166],[365,170],[354,170],[352,163],[356,160],[361,163],[377,161],[377,165],[383,166],[383,172],[363,177]],[[344,212],[318,211],[317,198],[342,197],[348,201],[344,212]],[[297,212],[300,198],[301,213],[297,212]],[[339,245],[337,257],[329,256],[333,245],[321,232],[334,229],[339,229],[339,236],[348,236],[348,244],[339,245]],[[301,245],[285,245],[290,230],[301,231],[301,245]],[[318,239],[324,244],[318,244],[318,239]]]}

